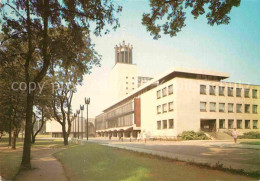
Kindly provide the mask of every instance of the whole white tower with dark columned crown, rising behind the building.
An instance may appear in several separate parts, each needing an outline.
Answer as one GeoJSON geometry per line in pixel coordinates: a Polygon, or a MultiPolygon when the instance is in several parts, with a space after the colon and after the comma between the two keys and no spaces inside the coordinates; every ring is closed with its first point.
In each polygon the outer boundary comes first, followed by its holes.
{"type": "Polygon", "coordinates": [[[110,72],[110,97],[117,100],[130,94],[138,87],[138,67],[133,64],[133,46],[115,46],[115,65],[110,72]]]}

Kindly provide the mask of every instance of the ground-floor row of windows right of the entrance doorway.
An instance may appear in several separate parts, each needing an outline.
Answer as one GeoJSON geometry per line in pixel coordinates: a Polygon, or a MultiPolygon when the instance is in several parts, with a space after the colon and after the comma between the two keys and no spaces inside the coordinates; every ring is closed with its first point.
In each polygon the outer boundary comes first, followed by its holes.
{"type": "MultiPolygon", "coordinates": [[[[244,122],[244,128],[245,129],[251,129],[251,120],[245,120],[244,122]]],[[[225,129],[225,119],[220,119],[219,120],[219,128],[220,129],[225,129]]],[[[228,119],[228,129],[233,129],[234,126],[234,120],[233,119],[228,119]]],[[[236,120],[236,128],[237,129],[243,129],[243,121],[242,119],[237,119],[236,120]]],[[[258,129],[258,120],[253,120],[253,129],[258,129]]]]}

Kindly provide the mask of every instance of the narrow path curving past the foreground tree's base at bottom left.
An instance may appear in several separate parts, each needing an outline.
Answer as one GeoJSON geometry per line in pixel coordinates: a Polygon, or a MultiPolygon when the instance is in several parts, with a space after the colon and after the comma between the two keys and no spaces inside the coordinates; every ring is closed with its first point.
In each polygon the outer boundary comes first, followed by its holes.
{"type": "Polygon", "coordinates": [[[33,148],[32,170],[23,170],[16,176],[16,181],[66,181],[62,165],[52,154],[57,148],[33,148]]]}

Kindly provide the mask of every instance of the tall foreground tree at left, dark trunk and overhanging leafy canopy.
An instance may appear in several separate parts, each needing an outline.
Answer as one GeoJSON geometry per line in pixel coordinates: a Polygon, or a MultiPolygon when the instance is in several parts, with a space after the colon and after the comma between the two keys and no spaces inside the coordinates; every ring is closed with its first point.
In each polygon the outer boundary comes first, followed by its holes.
{"type": "MultiPolygon", "coordinates": [[[[83,41],[82,32],[90,33],[90,25],[94,27],[95,35],[101,35],[107,24],[116,29],[119,24],[115,13],[121,11],[121,7],[115,6],[112,0],[6,0],[2,1],[1,5],[3,33],[8,38],[26,42],[23,67],[27,87],[30,82],[36,85],[40,83],[50,67],[50,51],[53,47],[49,34],[51,29],[65,26],[70,30],[71,42],[80,44],[83,41]]],[[[107,32],[108,29],[105,30],[105,33],[107,32]]],[[[31,128],[35,94],[36,90],[27,89],[25,140],[21,163],[25,168],[31,168],[31,128]]]]}

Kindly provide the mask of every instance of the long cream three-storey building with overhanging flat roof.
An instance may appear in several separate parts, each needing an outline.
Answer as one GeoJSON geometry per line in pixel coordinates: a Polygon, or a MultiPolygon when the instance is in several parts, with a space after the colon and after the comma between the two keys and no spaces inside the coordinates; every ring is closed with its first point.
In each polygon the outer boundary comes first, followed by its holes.
{"type": "MultiPolygon", "coordinates": [[[[114,67],[127,69],[119,64],[116,62],[114,67]]],[[[259,131],[260,86],[225,82],[229,76],[171,68],[120,94],[96,117],[96,132],[99,136],[136,137],[142,131],[148,138],[175,138],[191,130],[224,132],[237,128],[239,134],[259,131]]],[[[125,81],[118,84],[125,86],[125,81]]]]}

